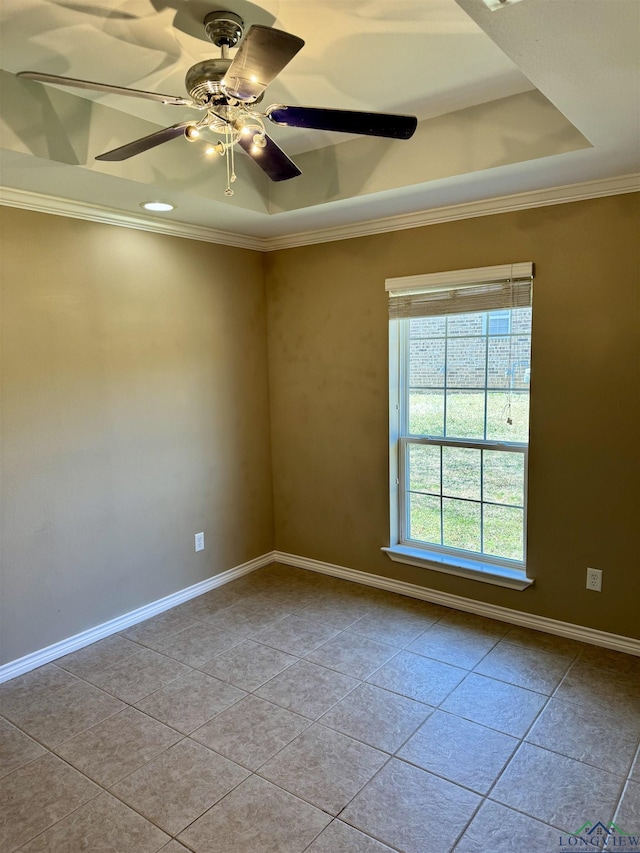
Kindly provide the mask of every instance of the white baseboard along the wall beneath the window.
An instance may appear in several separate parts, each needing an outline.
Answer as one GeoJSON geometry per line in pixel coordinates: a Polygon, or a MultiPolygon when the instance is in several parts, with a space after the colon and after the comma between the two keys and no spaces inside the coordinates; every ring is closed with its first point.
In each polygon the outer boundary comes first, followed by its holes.
{"type": "Polygon", "coordinates": [[[278,563],[285,563],[299,569],[309,569],[312,572],[332,575],[365,586],[374,586],[411,598],[420,598],[423,601],[442,604],[455,610],[465,610],[468,613],[498,619],[500,622],[509,622],[511,625],[521,625],[535,631],[545,631],[547,634],[569,637],[581,643],[591,643],[594,646],[603,646],[606,649],[615,649],[618,652],[640,656],[640,640],[635,640],[632,637],[609,634],[607,631],[598,631],[595,628],[586,628],[582,625],[574,625],[571,622],[561,622],[558,619],[549,619],[546,616],[536,616],[533,613],[524,613],[522,610],[511,610],[509,607],[500,607],[497,604],[486,604],[484,601],[476,601],[473,598],[464,598],[461,595],[452,595],[449,592],[440,592],[417,584],[396,581],[382,575],[359,572],[355,569],[347,569],[344,566],[334,566],[332,563],[323,563],[321,560],[298,557],[295,554],[286,554],[282,551],[274,551],[273,559],[278,563]]]}

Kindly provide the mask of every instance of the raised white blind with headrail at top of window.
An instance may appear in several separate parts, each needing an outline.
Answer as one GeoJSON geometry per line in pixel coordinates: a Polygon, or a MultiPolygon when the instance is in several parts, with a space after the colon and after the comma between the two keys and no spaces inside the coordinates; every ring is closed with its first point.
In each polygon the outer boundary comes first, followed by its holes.
{"type": "Polygon", "coordinates": [[[387,279],[389,316],[432,317],[531,305],[533,264],[454,270],[387,279]]]}

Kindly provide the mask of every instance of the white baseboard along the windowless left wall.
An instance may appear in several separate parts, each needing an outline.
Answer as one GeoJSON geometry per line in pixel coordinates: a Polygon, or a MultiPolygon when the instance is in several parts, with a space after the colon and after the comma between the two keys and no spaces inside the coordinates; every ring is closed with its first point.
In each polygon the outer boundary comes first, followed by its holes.
{"type": "Polygon", "coordinates": [[[117,634],[118,631],[123,631],[125,628],[130,628],[131,625],[137,625],[151,616],[156,616],[158,613],[163,613],[178,604],[183,604],[198,595],[209,592],[218,586],[223,586],[229,581],[253,572],[256,569],[262,568],[274,560],[273,552],[262,554],[247,563],[242,563],[240,566],[235,566],[233,569],[228,569],[225,572],[220,572],[219,575],[214,575],[200,583],[188,586],[185,589],[180,589],[172,595],[167,595],[165,598],[159,598],[157,601],[152,601],[150,604],[145,604],[143,607],[138,607],[137,610],[131,610],[129,613],[124,613],[122,616],[117,616],[109,622],[103,622],[101,625],[96,625],[95,628],[89,628],[88,631],[82,631],[80,634],[75,634],[73,637],[68,637],[66,640],[61,640],[59,643],[54,643],[52,646],[47,646],[44,649],[39,649],[37,652],[32,652],[22,658],[11,661],[10,663],[0,666],[0,684],[3,681],[8,681],[10,678],[15,678],[17,675],[23,675],[38,666],[43,666],[45,663],[50,663],[52,660],[64,657],[78,649],[83,649],[85,646],[90,646],[91,643],[96,643],[98,640],[109,637],[111,634],[117,634]]]}

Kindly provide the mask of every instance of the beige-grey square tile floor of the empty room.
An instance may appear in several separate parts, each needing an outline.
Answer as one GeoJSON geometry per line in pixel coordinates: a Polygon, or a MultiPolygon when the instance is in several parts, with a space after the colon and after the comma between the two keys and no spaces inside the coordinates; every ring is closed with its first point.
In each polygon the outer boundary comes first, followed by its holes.
{"type": "Polygon", "coordinates": [[[640,658],[273,565],[0,685],[0,850],[640,835],[639,683],[640,658]]]}

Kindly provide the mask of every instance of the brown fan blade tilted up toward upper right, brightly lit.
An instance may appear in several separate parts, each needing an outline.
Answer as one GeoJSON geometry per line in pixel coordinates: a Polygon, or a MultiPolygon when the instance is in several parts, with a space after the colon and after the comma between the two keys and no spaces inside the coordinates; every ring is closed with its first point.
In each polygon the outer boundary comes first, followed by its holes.
{"type": "Polygon", "coordinates": [[[240,101],[257,100],[303,45],[291,33],[254,25],[227,69],[222,81],[225,92],[240,101]]]}

